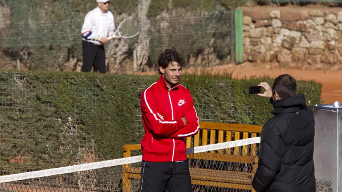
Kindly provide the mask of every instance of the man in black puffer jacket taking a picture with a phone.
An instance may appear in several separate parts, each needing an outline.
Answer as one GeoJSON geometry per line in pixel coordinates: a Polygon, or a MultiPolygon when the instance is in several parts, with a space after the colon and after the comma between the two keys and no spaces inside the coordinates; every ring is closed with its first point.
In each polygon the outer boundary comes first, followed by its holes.
{"type": "Polygon", "coordinates": [[[259,163],[252,186],[258,192],[314,192],[314,116],[297,94],[297,84],[288,74],[278,76],[274,84],[266,82],[261,97],[270,98],[275,116],[261,131],[259,163]]]}

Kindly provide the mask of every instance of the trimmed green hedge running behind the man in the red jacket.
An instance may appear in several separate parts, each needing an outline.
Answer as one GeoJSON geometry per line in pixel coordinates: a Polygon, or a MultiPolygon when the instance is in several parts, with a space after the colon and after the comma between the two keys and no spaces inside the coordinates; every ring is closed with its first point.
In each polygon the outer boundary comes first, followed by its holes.
{"type": "MultiPolygon", "coordinates": [[[[248,95],[248,86],[272,85],[273,79],[200,73],[185,73],[181,83],[191,91],[202,120],[262,125],[272,116],[268,99],[248,95]]],[[[1,71],[0,174],[122,157],[121,146],[139,143],[144,134],[140,94],[158,78],[1,71]]],[[[321,103],[321,87],[298,81],[308,105],[321,103]]]]}

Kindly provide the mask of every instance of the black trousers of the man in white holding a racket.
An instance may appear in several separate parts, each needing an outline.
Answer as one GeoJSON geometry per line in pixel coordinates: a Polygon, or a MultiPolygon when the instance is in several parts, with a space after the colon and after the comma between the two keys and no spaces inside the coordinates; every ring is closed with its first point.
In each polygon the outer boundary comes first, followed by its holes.
{"type": "Polygon", "coordinates": [[[94,71],[106,72],[106,54],[103,45],[97,46],[88,41],[82,41],[82,52],[82,72],[90,72],[93,66],[94,71]]]}

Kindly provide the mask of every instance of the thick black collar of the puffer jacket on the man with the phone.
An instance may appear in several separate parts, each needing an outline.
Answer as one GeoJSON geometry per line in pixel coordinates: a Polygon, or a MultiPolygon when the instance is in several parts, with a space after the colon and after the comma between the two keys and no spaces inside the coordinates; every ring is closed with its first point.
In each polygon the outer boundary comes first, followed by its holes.
{"type": "Polygon", "coordinates": [[[298,94],[297,96],[287,99],[275,100],[272,102],[272,104],[274,109],[271,111],[271,113],[273,114],[282,112],[298,112],[299,110],[307,107],[304,94],[298,94]]]}

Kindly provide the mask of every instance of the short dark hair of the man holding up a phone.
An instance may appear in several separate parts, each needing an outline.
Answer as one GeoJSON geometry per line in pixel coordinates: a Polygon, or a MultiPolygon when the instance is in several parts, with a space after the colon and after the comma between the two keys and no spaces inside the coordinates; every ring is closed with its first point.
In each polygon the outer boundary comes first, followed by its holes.
{"type": "Polygon", "coordinates": [[[276,91],[281,99],[287,99],[297,95],[296,80],[289,74],[278,76],[273,83],[272,92],[276,91]]]}

